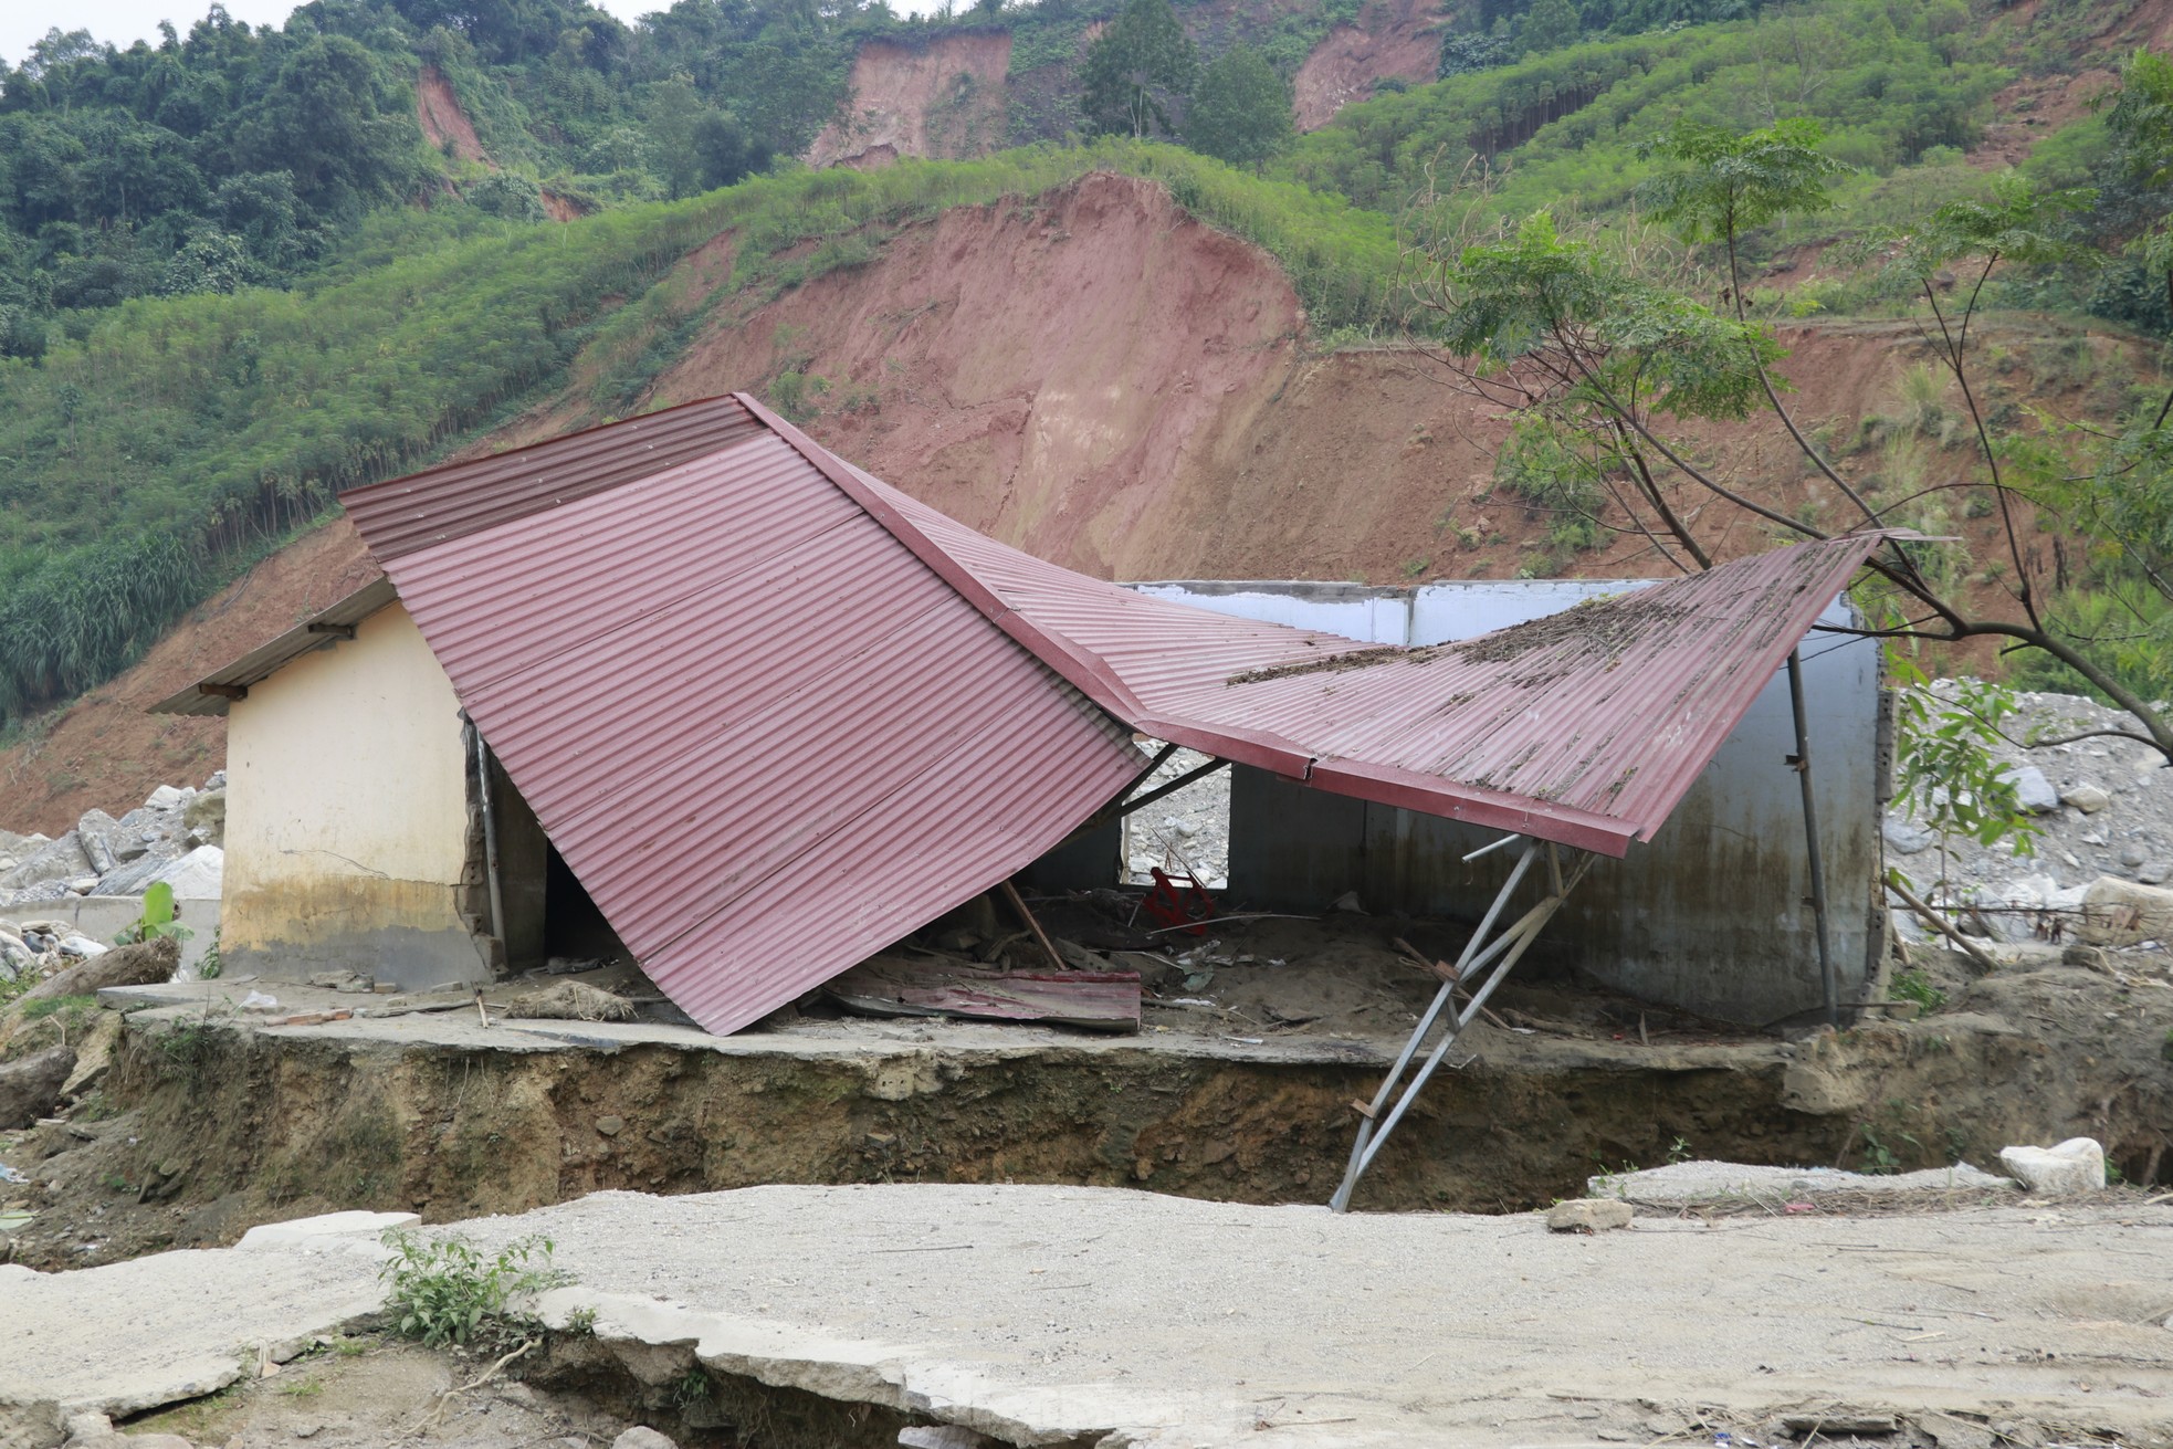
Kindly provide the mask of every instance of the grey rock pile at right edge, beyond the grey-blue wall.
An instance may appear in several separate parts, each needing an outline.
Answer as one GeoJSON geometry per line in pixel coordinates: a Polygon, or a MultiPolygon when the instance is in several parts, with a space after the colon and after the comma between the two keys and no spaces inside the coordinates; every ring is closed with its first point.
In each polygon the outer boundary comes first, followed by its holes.
{"type": "MultiPolygon", "coordinates": [[[[1954,680],[1932,691],[1951,700],[1954,680]]],[[[2021,693],[1999,754],[2036,839],[1982,845],[1940,836],[1908,799],[1886,810],[1886,865],[1964,934],[1995,943],[2086,941],[2136,952],[2173,945],[2173,769],[2158,749],[2093,730],[2136,730],[2121,710],[2077,695],[2021,693]],[[2034,745],[2030,741],[2069,741],[2034,745]]],[[[1895,910],[1904,941],[1925,923],[1895,910]]]]}

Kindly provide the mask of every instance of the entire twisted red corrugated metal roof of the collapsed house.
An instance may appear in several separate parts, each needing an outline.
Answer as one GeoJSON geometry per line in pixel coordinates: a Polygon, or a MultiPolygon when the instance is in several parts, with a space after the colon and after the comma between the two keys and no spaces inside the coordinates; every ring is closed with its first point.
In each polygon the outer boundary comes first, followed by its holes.
{"type": "Polygon", "coordinates": [[[1880,543],[1382,650],[1004,547],[745,395],[508,458],[343,502],[567,865],[717,1032],[1060,841],[1136,769],[1108,715],[1619,856],[1880,543]]]}

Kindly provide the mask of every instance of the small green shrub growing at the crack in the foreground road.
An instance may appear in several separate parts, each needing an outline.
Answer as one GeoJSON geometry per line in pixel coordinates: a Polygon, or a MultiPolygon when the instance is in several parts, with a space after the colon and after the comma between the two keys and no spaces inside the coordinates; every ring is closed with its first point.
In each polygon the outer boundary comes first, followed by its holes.
{"type": "Polygon", "coordinates": [[[393,1314],[393,1332],[432,1349],[532,1336],[539,1325],[515,1299],[571,1282],[569,1273],[552,1267],[550,1238],[517,1238],[495,1258],[485,1258],[459,1236],[422,1238],[393,1230],[385,1234],[385,1245],[393,1256],[378,1277],[391,1288],[385,1306],[393,1314]]]}

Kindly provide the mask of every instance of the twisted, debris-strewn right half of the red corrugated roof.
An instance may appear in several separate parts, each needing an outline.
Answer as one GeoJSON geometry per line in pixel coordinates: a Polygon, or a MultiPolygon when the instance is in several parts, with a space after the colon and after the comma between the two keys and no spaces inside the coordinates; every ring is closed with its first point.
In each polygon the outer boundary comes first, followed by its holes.
{"type": "Polygon", "coordinates": [[[1667,821],[1884,541],[1782,547],[1478,639],[1397,650],[1071,574],[750,408],[1134,728],[1341,795],[1610,856],[1667,821]]]}

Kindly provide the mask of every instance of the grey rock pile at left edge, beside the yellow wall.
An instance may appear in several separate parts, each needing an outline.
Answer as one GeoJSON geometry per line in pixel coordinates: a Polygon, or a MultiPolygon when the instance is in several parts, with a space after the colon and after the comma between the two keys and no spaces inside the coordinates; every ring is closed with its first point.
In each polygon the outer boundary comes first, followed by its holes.
{"type": "Polygon", "coordinates": [[[202,789],[161,784],[120,819],[85,810],[56,841],[0,830],[0,910],[70,895],[143,895],[161,880],[176,899],[217,899],[224,839],[224,769],[202,789]]]}

